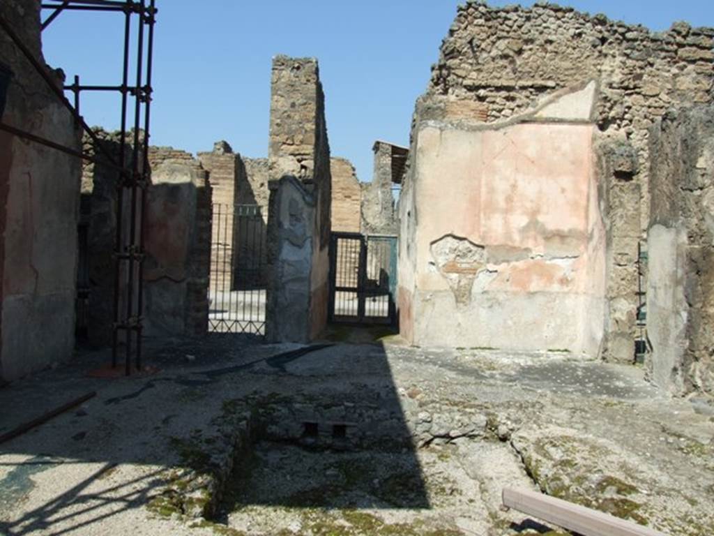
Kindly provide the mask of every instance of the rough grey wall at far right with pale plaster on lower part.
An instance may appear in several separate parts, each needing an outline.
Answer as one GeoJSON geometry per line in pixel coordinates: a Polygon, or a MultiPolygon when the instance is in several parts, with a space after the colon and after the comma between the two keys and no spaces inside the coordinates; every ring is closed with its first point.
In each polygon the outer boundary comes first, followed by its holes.
{"type": "Polygon", "coordinates": [[[649,374],[714,394],[714,106],[666,114],[650,142],[649,374]]]}

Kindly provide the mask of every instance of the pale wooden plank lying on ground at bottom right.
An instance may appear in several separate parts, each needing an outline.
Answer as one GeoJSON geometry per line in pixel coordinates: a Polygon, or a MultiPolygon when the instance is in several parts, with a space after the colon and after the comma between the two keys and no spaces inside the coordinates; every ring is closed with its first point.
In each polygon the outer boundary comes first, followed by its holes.
{"type": "Polygon", "coordinates": [[[529,490],[503,488],[503,505],[583,536],[665,536],[619,517],[529,490]]]}

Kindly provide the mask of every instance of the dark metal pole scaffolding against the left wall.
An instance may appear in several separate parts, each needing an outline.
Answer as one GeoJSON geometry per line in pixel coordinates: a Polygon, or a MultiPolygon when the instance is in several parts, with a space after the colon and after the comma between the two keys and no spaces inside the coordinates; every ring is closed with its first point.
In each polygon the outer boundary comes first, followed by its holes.
{"type": "Polygon", "coordinates": [[[46,29],[64,11],[116,11],[124,14],[124,59],[121,84],[116,86],[92,86],[80,84],[79,76],[74,83],[65,85],[65,91],[74,94],[74,104],[56,85],[48,69],[41,64],[31,50],[22,42],[11,25],[0,16],[0,28],[6,32],[19,51],[46,81],[47,86],[64,106],[74,115],[76,128],[81,128],[91,138],[96,154],[77,151],[72,147],[53,142],[0,122],[0,129],[31,142],[46,145],[71,154],[74,157],[109,166],[119,174],[116,184],[116,237],[114,247],[114,322],[112,329],[112,367],[117,366],[119,349],[124,344],[126,351],[126,374],[131,374],[132,356],[135,367],[141,369],[141,334],[143,309],[144,273],[144,204],[146,187],[149,185],[149,122],[151,119],[151,69],[154,59],[154,25],[156,24],[156,0],[56,0],[41,4],[51,14],[41,23],[46,29]],[[132,21],[138,18],[137,23],[132,21]],[[135,26],[135,27],[133,27],[135,26]],[[131,74],[130,53],[134,51],[136,74],[129,84],[131,74]],[[83,91],[115,91],[121,94],[121,121],[119,131],[119,158],[106,150],[103,142],[84,121],[79,113],[80,96],[83,91]],[[133,114],[131,114],[133,112],[133,114]],[[131,114],[131,115],[130,115],[131,114]],[[133,115],[133,116],[132,116],[133,115]],[[131,131],[128,126],[132,125],[131,131]],[[136,335],[136,337],[134,336],[136,335]]]}

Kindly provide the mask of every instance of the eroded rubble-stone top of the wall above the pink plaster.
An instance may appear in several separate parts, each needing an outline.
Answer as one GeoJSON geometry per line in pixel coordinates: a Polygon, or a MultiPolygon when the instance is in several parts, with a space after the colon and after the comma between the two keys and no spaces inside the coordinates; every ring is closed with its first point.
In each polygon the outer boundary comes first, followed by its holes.
{"type": "Polygon", "coordinates": [[[468,1],[443,41],[428,94],[468,98],[478,104],[474,116],[495,121],[555,89],[599,79],[598,126],[631,133],[672,104],[712,99],[713,36],[683,22],[652,33],[555,4],[468,1]]]}

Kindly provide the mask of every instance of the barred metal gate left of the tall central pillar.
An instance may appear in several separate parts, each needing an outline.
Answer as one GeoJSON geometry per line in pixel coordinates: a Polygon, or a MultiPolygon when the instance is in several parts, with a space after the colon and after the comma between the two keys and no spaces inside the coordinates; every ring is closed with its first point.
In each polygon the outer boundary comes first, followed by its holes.
{"type": "Polygon", "coordinates": [[[259,205],[213,204],[208,331],[265,334],[266,222],[259,205]]]}

